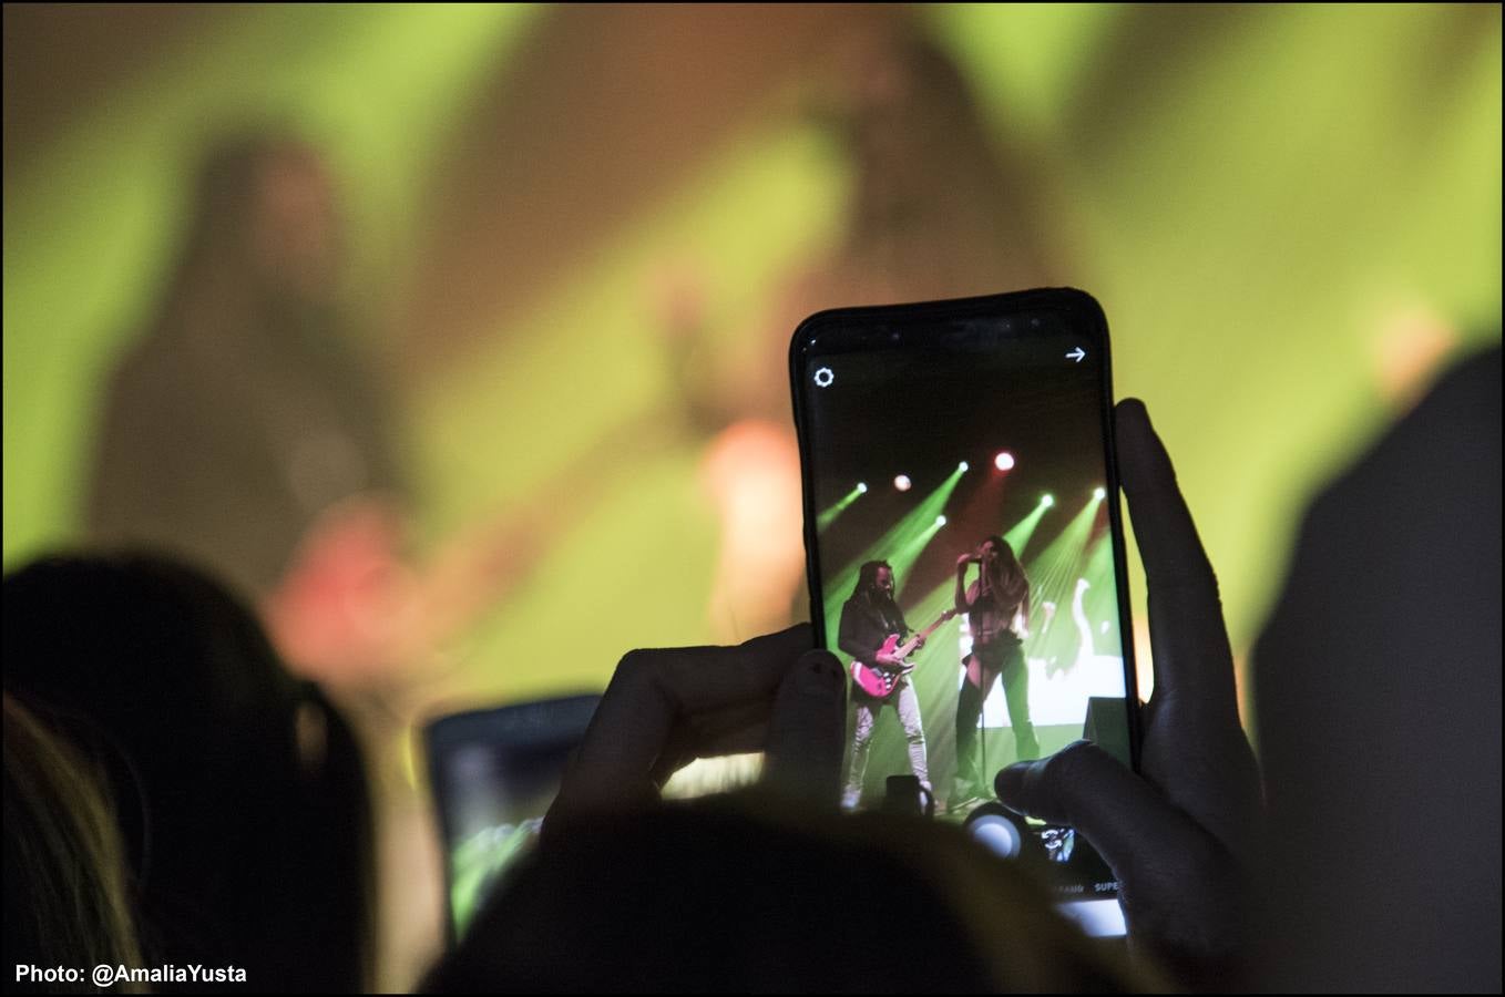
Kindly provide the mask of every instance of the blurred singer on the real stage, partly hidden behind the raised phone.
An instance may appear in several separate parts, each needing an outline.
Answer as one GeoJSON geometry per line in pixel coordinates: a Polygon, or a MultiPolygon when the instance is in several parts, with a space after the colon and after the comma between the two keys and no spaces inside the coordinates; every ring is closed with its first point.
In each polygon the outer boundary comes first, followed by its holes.
{"type": "Polygon", "coordinates": [[[808,611],[789,423],[787,349],[799,322],[825,308],[1038,287],[1060,272],[1029,206],[1040,179],[996,147],[962,72],[914,18],[849,26],[810,60],[807,87],[852,170],[837,250],[792,275],[730,344],[707,328],[709,290],[692,269],[668,275],[661,302],[688,423],[710,439],[703,480],[722,523],[710,595],[721,639],[808,611]]]}

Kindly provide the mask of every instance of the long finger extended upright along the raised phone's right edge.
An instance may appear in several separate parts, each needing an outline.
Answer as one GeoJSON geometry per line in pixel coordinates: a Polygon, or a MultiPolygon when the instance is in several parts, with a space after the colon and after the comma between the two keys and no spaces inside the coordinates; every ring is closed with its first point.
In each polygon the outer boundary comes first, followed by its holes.
{"type": "Polygon", "coordinates": [[[1144,559],[1156,695],[1186,692],[1209,711],[1237,716],[1233,653],[1212,562],[1175,483],[1165,445],[1138,398],[1114,411],[1120,477],[1144,559]]]}

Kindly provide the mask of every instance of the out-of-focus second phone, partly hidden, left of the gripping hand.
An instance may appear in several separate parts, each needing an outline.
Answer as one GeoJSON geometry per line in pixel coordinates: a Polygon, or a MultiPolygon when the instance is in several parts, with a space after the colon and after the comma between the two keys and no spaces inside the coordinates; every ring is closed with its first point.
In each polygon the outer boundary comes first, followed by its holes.
{"type": "Polygon", "coordinates": [[[444,842],[450,944],[533,847],[597,702],[599,693],[518,702],[445,716],[424,728],[444,842]]]}

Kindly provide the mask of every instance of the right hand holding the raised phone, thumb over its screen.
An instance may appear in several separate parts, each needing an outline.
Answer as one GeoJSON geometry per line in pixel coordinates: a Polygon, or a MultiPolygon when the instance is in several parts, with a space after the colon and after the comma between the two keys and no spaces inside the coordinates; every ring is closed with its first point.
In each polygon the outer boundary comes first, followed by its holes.
{"type": "Polygon", "coordinates": [[[1144,556],[1154,693],[1141,774],[1079,741],[998,773],[1010,808],[1070,824],[1123,884],[1129,938],[1190,989],[1225,988],[1245,941],[1263,833],[1218,580],[1144,405],[1117,408],[1124,495],[1144,556]]]}

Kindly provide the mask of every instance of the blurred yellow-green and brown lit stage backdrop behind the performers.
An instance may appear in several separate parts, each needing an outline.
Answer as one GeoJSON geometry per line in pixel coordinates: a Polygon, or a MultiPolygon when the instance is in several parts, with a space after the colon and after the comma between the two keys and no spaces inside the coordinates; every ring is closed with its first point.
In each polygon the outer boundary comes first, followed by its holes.
{"type": "MultiPolygon", "coordinates": [[[[1497,5],[6,6],[6,568],[78,537],[101,380],[221,122],[328,153],[435,544],[655,421],[679,386],[665,280],[692,280],[712,362],[778,368],[787,328],[746,329],[840,247],[859,168],[810,111],[826,42],[894,18],[1026,164],[999,185],[1052,280],[1102,301],[1243,653],[1314,487],[1499,337],[1497,5]],[[465,224],[477,206],[497,221],[465,224]]],[[[725,638],[704,447],[614,465],[471,633],[461,687],[599,684],[629,647],[725,638]],[[622,591],[581,627],[604,571],[622,591]]]]}

